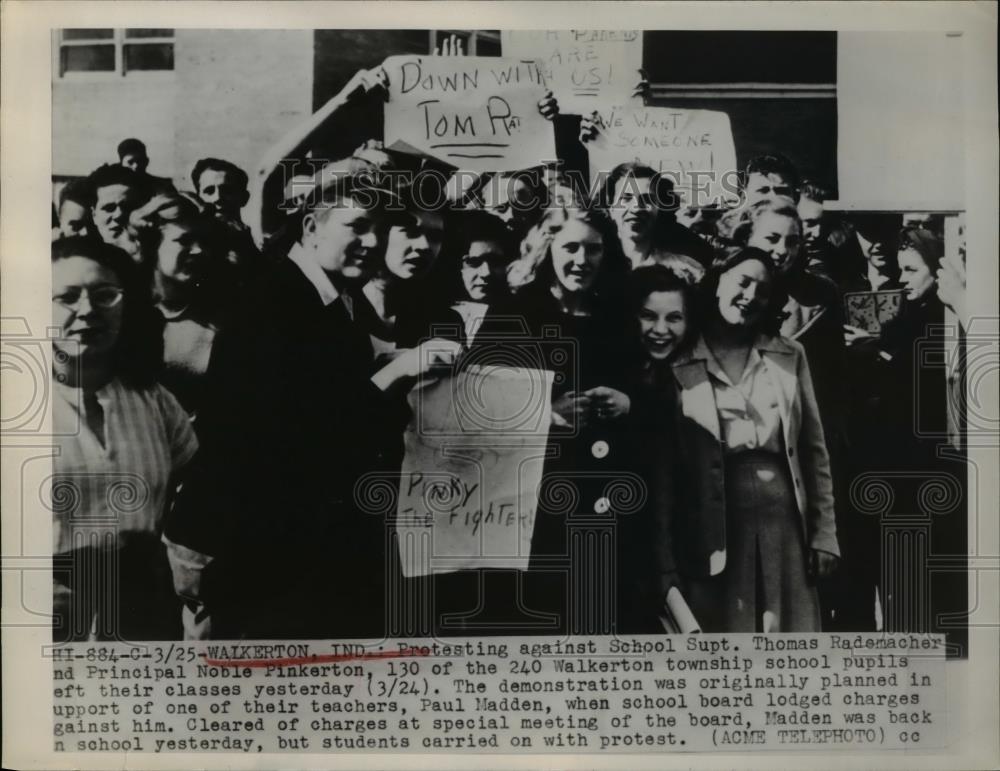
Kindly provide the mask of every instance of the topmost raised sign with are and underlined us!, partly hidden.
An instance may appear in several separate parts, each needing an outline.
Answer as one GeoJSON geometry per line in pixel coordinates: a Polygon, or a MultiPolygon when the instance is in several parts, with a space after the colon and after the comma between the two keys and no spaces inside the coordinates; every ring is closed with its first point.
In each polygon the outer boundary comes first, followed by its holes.
{"type": "Polygon", "coordinates": [[[587,115],[602,104],[627,99],[639,82],[642,31],[503,30],[504,56],[533,59],[560,112],[587,115]]]}

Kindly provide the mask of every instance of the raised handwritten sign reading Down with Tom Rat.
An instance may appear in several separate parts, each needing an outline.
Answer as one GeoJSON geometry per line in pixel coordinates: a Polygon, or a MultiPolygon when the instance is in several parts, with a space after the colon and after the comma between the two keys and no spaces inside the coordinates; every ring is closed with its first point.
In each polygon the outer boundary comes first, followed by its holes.
{"type": "Polygon", "coordinates": [[[517,171],[555,159],[545,89],[531,62],[490,56],[391,56],[385,143],[471,171],[517,171]]]}

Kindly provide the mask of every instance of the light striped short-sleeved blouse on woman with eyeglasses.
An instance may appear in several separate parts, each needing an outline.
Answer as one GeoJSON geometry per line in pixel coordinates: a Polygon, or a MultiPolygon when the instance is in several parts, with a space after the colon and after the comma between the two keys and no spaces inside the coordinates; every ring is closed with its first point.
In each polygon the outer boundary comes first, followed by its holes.
{"type": "Polygon", "coordinates": [[[102,444],[88,426],[83,392],[53,386],[53,553],[158,534],[171,475],[198,449],[183,408],[163,386],[137,390],[116,378],[96,393],[102,444]]]}

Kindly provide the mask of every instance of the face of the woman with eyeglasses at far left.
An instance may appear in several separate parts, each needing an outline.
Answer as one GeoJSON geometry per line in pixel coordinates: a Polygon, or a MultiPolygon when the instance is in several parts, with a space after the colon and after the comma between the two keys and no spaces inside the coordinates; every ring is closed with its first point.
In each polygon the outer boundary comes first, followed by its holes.
{"type": "Polygon", "coordinates": [[[52,263],[52,320],[57,350],[71,356],[105,354],[122,327],[123,294],[114,271],[89,257],[52,263]]]}

